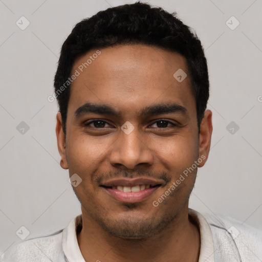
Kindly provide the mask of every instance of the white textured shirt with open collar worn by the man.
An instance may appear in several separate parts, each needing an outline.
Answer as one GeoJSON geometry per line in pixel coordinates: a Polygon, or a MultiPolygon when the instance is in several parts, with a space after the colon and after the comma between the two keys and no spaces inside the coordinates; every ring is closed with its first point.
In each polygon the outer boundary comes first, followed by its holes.
{"type": "MultiPolygon", "coordinates": [[[[188,209],[188,212],[200,228],[199,262],[262,261],[261,231],[243,226],[236,220],[210,215],[204,217],[192,209],[188,209]],[[227,229],[230,227],[232,227],[229,231],[231,235],[227,233],[227,229]]],[[[76,229],[78,226],[81,227],[81,222],[80,214],[63,230],[52,235],[32,238],[9,248],[0,257],[0,261],[85,262],[78,246],[76,234],[76,229]]],[[[97,259],[99,260],[99,257],[97,259]]]]}

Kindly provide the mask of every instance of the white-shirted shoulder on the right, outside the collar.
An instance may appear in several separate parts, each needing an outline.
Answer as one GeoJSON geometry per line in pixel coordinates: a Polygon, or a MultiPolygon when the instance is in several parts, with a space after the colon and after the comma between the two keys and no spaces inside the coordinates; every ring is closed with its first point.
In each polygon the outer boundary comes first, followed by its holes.
{"type": "Polygon", "coordinates": [[[203,214],[208,222],[214,250],[220,259],[227,255],[243,261],[261,261],[262,230],[225,215],[203,214]]]}

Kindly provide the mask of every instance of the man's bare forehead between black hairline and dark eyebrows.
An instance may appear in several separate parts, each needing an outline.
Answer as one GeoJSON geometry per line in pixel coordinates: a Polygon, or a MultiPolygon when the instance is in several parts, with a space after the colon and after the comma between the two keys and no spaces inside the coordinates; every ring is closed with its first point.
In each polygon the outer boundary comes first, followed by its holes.
{"type": "Polygon", "coordinates": [[[145,45],[94,49],[75,61],[75,72],[71,110],[86,102],[110,104],[129,114],[158,102],[195,107],[186,59],[178,53],[145,45]]]}

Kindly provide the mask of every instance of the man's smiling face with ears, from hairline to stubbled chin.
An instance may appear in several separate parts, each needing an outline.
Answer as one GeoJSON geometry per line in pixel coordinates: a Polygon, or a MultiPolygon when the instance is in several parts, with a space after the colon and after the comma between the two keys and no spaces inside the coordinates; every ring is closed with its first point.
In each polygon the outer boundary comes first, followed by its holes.
{"type": "Polygon", "coordinates": [[[188,207],[208,157],[211,112],[199,134],[183,56],[144,45],[100,52],[74,63],[80,74],[71,86],[66,139],[57,115],[61,166],[82,180],[73,189],[86,219],[112,235],[143,238],[188,207]],[[183,81],[173,76],[179,69],[183,81]]]}

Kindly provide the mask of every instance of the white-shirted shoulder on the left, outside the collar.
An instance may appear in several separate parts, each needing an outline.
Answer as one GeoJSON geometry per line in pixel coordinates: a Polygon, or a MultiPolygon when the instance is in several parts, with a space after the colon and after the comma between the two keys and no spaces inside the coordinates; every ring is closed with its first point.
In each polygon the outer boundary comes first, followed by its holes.
{"type": "Polygon", "coordinates": [[[40,236],[9,248],[1,257],[3,262],[65,261],[62,250],[62,229],[48,236],[40,236]]]}

